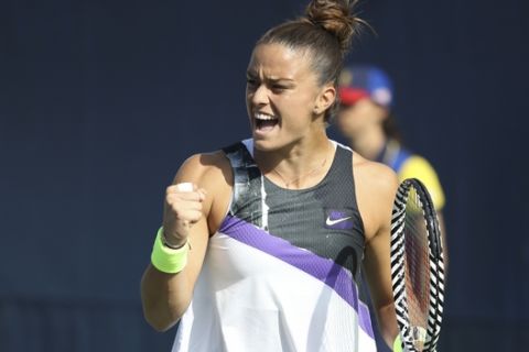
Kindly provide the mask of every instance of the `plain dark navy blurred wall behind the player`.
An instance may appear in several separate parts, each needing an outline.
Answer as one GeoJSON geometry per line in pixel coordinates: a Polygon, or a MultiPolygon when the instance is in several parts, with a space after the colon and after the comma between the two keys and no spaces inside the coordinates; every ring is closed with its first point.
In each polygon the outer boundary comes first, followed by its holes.
{"type": "MultiPolygon", "coordinates": [[[[252,45],[304,4],[0,1],[0,351],[169,350],[139,304],[164,188],[188,155],[248,135],[252,45]]],[[[528,4],[359,9],[377,34],[348,62],[392,76],[407,144],[446,191],[443,351],[521,351],[528,4]]]]}

